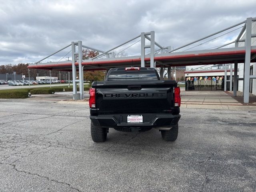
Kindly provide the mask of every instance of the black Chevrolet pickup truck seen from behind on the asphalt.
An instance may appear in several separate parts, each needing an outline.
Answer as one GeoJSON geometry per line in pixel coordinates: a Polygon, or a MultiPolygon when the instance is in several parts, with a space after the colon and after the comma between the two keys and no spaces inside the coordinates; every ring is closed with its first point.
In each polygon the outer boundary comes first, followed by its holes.
{"type": "Polygon", "coordinates": [[[154,68],[113,68],[105,81],[90,88],[91,135],[104,142],[109,128],[124,132],[161,131],[165,141],[175,141],[180,120],[180,87],[160,80],[154,68]]]}

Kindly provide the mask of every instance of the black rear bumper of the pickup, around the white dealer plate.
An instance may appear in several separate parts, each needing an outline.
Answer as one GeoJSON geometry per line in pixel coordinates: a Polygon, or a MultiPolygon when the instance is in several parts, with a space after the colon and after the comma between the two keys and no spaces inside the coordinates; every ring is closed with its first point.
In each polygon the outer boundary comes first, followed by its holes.
{"type": "Polygon", "coordinates": [[[180,114],[140,114],[143,116],[143,123],[128,123],[129,114],[112,114],[90,116],[92,124],[98,127],[106,128],[159,128],[172,127],[178,124],[180,114]]]}

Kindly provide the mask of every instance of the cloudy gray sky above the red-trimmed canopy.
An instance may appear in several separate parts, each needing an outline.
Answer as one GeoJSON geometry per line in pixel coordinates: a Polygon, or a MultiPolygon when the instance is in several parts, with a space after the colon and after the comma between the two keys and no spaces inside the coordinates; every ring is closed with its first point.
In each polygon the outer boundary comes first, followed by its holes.
{"type": "MultiPolygon", "coordinates": [[[[151,30],[159,44],[175,48],[255,17],[255,7],[255,0],[0,0],[0,64],[36,62],[78,40],[108,50],[151,30]]],[[[231,42],[239,32],[190,50],[231,42]]],[[[59,61],[69,51],[67,48],[45,61],[59,61]]],[[[140,42],[124,52],[140,54],[140,42]]]]}

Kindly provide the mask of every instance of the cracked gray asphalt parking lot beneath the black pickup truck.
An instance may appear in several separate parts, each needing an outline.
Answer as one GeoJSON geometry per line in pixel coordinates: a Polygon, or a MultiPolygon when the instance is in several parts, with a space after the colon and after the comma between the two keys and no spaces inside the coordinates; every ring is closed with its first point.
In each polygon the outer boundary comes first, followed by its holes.
{"type": "Polygon", "coordinates": [[[86,104],[0,99],[0,191],[256,190],[256,113],[181,108],[176,142],[158,130],[90,137],[86,104]]]}

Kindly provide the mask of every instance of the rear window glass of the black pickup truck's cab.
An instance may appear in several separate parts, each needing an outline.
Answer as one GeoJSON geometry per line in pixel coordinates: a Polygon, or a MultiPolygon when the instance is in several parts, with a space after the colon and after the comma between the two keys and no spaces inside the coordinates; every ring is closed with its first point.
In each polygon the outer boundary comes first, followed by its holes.
{"type": "Polygon", "coordinates": [[[108,76],[108,81],[114,80],[158,80],[154,71],[112,71],[108,76]]]}

